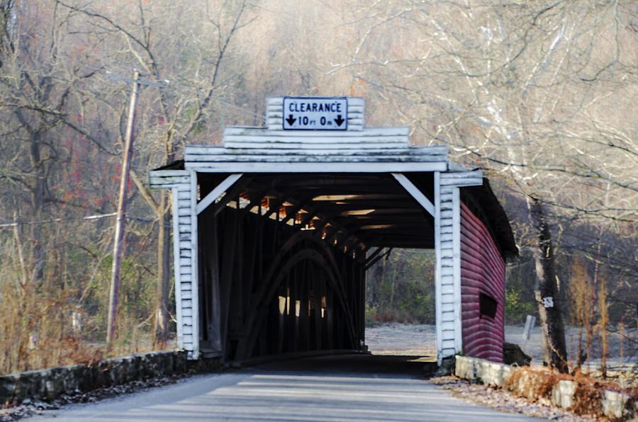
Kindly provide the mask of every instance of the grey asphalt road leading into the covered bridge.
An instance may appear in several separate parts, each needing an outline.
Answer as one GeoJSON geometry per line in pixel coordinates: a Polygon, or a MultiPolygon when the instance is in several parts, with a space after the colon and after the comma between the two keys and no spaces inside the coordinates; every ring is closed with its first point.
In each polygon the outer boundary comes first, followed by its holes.
{"type": "Polygon", "coordinates": [[[28,421],[540,421],[467,404],[414,357],[343,355],[269,363],[46,411],[28,421]]]}

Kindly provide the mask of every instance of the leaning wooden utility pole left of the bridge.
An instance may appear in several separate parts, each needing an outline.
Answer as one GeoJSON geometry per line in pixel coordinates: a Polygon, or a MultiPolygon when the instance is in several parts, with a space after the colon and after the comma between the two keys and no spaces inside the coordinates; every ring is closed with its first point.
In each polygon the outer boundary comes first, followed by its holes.
{"type": "Polygon", "coordinates": [[[118,315],[118,297],[120,294],[120,269],[122,267],[122,249],[124,244],[124,226],[126,222],[126,198],[128,196],[128,178],[130,161],[133,155],[133,130],[135,127],[135,106],[138,103],[140,89],[140,74],[136,70],[133,74],[133,93],[128,107],[128,122],[124,139],[124,161],[120,178],[120,198],[118,199],[118,213],[116,231],[113,240],[113,269],[111,270],[111,292],[108,296],[108,327],[106,329],[106,343],[111,343],[116,331],[118,315]]]}

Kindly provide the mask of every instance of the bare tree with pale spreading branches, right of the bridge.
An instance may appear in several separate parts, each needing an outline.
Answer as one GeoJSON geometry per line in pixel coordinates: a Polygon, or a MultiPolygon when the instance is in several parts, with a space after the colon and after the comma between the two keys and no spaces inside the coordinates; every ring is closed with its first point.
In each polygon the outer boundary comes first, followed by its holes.
{"type": "Polygon", "coordinates": [[[542,314],[551,311],[546,360],[564,370],[544,207],[600,224],[635,222],[634,5],[392,1],[352,10],[349,25],[362,35],[327,73],[374,87],[396,104],[395,121],[417,127],[417,142],[449,144],[457,159],[527,196],[537,303],[542,314]]]}

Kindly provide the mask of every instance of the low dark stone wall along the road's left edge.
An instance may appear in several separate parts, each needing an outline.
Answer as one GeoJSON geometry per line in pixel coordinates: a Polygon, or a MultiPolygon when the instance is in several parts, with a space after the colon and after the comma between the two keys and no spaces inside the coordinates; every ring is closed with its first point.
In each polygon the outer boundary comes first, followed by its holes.
{"type": "Polygon", "coordinates": [[[173,350],[136,353],[103,360],[95,365],[53,367],[3,375],[0,377],[0,403],[20,404],[26,398],[52,400],[60,394],[89,392],[186,370],[186,352],[173,350]]]}

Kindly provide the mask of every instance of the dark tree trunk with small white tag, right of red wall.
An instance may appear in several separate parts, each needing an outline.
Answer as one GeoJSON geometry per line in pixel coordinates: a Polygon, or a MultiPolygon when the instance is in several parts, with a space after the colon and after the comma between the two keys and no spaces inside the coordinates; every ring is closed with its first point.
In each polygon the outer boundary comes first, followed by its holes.
{"type": "Polygon", "coordinates": [[[527,198],[528,216],[534,227],[536,238],[534,260],[536,283],[534,295],[538,304],[541,329],[543,331],[543,361],[546,365],[566,373],[567,352],[565,331],[561,314],[561,300],[557,297],[556,268],[552,236],[547,226],[547,217],[542,204],[536,198],[527,198]]]}

